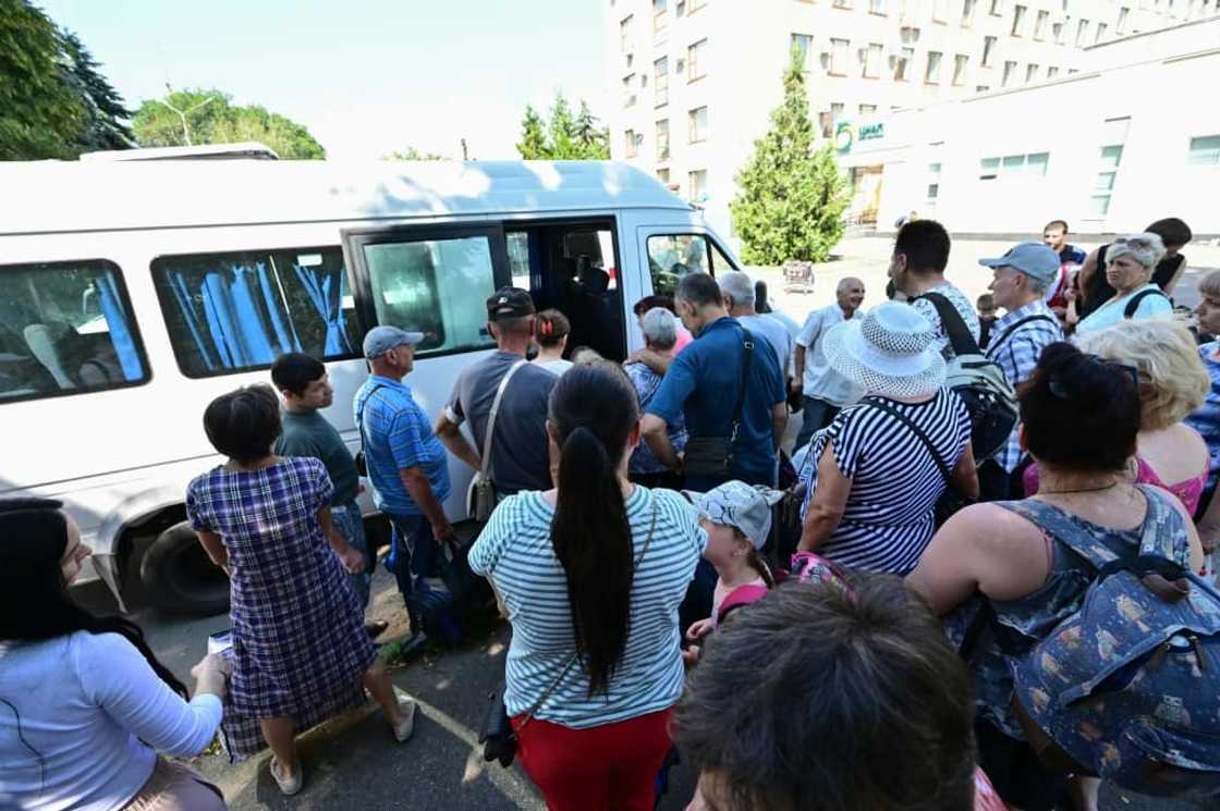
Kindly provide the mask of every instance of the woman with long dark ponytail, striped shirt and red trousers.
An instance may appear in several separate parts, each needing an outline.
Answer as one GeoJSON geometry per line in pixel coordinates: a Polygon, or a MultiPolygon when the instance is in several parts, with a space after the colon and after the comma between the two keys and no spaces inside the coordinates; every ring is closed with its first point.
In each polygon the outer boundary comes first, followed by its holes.
{"type": "Polygon", "coordinates": [[[621,368],[570,370],[547,427],[555,489],[505,499],[470,552],[512,623],[504,701],[551,811],[650,811],[708,539],[681,494],[627,481],[639,404],[621,368]]]}

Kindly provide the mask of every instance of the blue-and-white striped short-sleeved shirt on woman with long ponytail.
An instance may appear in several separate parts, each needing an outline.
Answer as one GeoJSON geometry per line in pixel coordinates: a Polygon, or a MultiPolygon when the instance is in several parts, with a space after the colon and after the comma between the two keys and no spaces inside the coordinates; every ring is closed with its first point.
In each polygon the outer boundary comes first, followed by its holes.
{"type": "MultiPolygon", "coordinates": [[[[678,605],[708,544],[695,509],[672,490],[636,487],[627,520],[639,562],[631,593],[627,646],[606,694],[589,698],[580,663],[555,684],[534,717],[573,729],[628,721],[666,710],[682,693],[678,605]]],[[[492,581],[512,623],[504,702],[510,716],[529,712],[576,650],[567,577],[555,556],[555,509],[540,493],[501,501],[470,550],[470,567],[492,581]]]]}

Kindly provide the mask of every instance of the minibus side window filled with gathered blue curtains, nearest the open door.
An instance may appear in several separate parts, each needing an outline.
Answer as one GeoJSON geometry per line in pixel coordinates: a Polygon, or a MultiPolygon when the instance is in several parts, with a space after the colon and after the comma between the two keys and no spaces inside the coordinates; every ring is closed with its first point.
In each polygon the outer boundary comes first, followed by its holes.
{"type": "Polygon", "coordinates": [[[284,352],[359,355],[338,246],[159,256],[152,279],[187,377],[267,368],[284,352]]]}

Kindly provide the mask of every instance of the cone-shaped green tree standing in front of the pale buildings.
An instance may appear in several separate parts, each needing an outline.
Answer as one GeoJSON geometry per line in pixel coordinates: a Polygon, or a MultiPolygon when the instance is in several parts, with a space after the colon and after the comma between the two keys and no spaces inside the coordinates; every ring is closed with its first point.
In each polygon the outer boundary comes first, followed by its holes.
{"type": "Polygon", "coordinates": [[[771,112],[771,129],[754,141],[754,155],[737,174],[741,191],[730,204],[747,262],[821,262],[842,237],[848,184],[832,145],[819,148],[814,133],[804,61],[793,49],[783,104],[771,112]]]}

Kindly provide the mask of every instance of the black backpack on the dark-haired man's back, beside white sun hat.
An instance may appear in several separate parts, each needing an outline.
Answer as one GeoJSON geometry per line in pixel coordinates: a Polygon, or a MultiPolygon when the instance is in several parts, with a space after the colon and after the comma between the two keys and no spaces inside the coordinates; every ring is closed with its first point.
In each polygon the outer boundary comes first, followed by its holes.
{"type": "Polygon", "coordinates": [[[1004,370],[978,349],[978,343],[952,301],[939,293],[919,298],[932,302],[949,337],[954,356],[948,361],[944,384],[966,404],[970,445],[975,451],[975,462],[981,463],[1008,443],[1016,427],[1016,391],[1004,370]]]}

